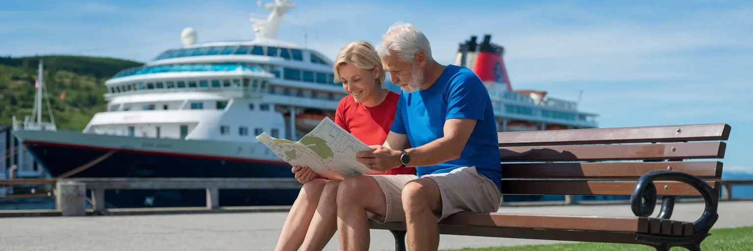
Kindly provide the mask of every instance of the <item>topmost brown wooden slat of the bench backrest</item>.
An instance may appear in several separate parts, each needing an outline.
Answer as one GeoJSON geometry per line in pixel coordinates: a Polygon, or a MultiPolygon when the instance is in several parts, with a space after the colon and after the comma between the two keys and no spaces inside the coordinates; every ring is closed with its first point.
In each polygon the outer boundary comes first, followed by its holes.
{"type": "Polygon", "coordinates": [[[497,133],[497,138],[500,146],[687,142],[727,140],[730,130],[728,124],[697,124],[503,132],[497,133]]]}

